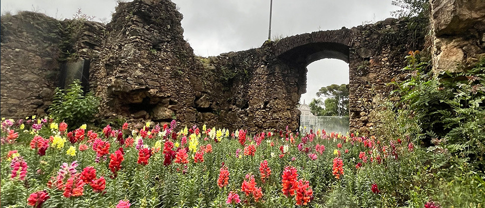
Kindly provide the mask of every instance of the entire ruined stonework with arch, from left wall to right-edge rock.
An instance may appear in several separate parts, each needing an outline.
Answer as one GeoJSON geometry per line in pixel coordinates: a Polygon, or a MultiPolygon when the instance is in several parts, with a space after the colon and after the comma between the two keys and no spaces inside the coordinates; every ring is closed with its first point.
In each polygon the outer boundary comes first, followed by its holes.
{"type": "MultiPolygon", "coordinates": [[[[476,24],[483,21],[479,6],[458,0],[436,0],[433,5],[436,66],[464,62],[464,57],[466,62],[483,51],[484,24],[476,24]],[[466,10],[457,8],[477,10],[464,17],[455,13],[466,10]],[[450,9],[449,18],[440,19],[440,12],[450,9]],[[469,23],[462,24],[465,20],[469,23]],[[453,33],[461,30],[468,32],[453,33]]],[[[379,121],[368,104],[389,96],[385,84],[406,76],[401,71],[404,56],[422,50],[425,42],[417,26],[423,19],[389,18],[204,58],[195,56],[184,40],[181,20],[170,0],[120,3],[106,26],[30,12],[2,16],[1,116],[45,113],[54,88],[64,86],[63,66],[82,61],[89,63],[84,64],[88,71],[83,77],[89,78],[85,89],[101,99],[101,119],[176,119],[187,126],[205,123],[250,132],[286,126],[295,130],[296,105],[306,92],[306,66],[336,58],[349,63],[350,128],[366,131],[379,121]],[[61,53],[66,50],[69,54],[61,53]]]]}

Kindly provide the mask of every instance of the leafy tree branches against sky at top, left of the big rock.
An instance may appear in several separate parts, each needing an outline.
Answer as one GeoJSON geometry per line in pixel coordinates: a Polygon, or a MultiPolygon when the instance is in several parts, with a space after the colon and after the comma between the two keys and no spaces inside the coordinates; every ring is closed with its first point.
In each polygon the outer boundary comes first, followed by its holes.
{"type": "Polygon", "coordinates": [[[398,18],[426,15],[430,7],[429,0],[392,0],[391,4],[401,8],[391,12],[398,18]]]}

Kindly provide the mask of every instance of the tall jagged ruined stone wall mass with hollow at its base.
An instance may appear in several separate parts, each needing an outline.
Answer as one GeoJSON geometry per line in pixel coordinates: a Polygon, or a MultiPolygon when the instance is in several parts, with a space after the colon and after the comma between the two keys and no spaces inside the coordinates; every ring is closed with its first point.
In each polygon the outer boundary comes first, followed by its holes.
{"type": "Polygon", "coordinates": [[[177,119],[190,126],[221,117],[225,102],[216,69],[203,68],[210,61],[194,55],[181,20],[170,0],[119,4],[102,51],[91,62],[91,89],[102,99],[102,118],[177,119]]]}

